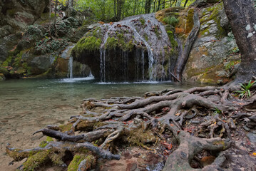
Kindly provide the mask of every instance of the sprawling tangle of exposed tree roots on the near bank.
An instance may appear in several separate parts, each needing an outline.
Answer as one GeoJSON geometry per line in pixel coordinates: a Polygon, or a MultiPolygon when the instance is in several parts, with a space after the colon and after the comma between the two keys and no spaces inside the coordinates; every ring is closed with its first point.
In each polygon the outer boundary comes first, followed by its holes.
{"type": "Polygon", "coordinates": [[[221,170],[237,127],[256,126],[256,86],[250,89],[251,98],[243,100],[235,90],[240,86],[84,99],[80,115],[71,116],[65,125],[36,131],[47,136],[40,147],[21,150],[8,145],[6,151],[14,161],[27,158],[19,170],[42,165],[91,170],[98,160],[119,160],[123,145],[162,156],[163,170],[221,170]],[[208,163],[201,162],[203,157],[208,163]]]}

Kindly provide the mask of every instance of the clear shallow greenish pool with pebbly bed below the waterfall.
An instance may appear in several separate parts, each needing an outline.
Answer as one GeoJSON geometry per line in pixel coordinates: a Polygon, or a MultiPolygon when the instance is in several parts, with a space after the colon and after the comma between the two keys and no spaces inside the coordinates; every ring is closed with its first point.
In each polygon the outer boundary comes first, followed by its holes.
{"type": "Polygon", "coordinates": [[[0,170],[15,170],[20,163],[8,166],[7,143],[21,149],[36,147],[44,140],[32,135],[46,125],[65,123],[81,112],[83,98],[143,96],[147,91],[166,88],[190,88],[171,82],[98,83],[93,78],[9,80],[0,82],[0,170]]]}

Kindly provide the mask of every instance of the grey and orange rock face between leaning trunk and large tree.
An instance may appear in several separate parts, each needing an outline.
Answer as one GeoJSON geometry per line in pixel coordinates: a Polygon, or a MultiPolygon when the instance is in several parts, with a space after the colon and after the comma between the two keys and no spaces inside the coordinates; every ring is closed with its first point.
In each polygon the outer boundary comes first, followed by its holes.
{"type": "MultiPolygon", "coordinates": [[[[195,41],[183,71],[185,81],[223,83],[230,81],[225,61],[236,46],[235,39],[227,39],[228,20],[223,4],[215,4],[200,11],[200,33],[195,41]]],[[[232,73],[233,74],[233,73],[232,73]]]]}

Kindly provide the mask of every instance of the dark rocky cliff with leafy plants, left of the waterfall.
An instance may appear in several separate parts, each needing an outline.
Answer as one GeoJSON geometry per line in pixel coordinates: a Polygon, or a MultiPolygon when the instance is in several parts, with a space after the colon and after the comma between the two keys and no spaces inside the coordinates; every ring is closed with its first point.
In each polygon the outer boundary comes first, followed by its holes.
{"type": "MultiPolygon", "coordinates": [[[[78,28],[82,14],[67,19],[57,14],[55,31],[49,28],[48,0],[0,3],[0,73],[6,78],[66,77],[70,53],[64,50],[91,29],[78,28]]],[[[73,63],[73,69],[74,76],[89,74],[81,63],[73,63]]]]}

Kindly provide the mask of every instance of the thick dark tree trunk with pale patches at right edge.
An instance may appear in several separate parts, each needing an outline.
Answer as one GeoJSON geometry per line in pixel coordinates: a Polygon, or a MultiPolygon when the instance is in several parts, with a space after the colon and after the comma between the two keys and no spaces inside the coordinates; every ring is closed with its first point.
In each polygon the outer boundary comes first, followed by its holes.
{"type": "Polygon", "coordinates": [[[252,0],[223,0],[241,64],[235,82],[250,81],[256,76],[256,11],[252,0]]]}

